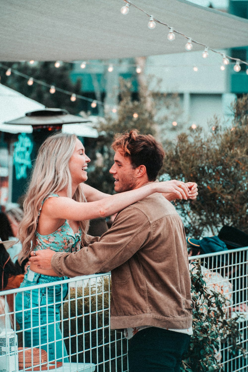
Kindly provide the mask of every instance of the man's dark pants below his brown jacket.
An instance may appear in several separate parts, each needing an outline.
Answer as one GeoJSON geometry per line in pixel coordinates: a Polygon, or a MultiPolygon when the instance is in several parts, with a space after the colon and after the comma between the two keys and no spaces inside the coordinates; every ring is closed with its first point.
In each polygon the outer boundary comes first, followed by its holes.
{"type": "Polygon", "coordinates": [[[180,372],[189,343],[188,334],[145,328],[128,341],[129,372],[180,372]]]}

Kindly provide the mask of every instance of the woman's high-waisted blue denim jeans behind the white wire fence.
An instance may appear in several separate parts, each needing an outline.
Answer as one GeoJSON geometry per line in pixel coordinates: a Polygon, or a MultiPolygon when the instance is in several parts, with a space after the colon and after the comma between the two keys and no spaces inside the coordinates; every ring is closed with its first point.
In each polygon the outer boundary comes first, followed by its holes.
{"type": "Polygon", "coordinates": [[[48,353],[49,362],[69,361],[59,327],[59,309],[67,296],[68,285],[52,285],[52,282],[64,279],[67,277],[38,274],[29,269],[20,288],[43,283],[51,283],[51,286],[32,291],[27,289],[16,295],[16,320],[24,331],[23,346],[41,347],[48,353]]]}

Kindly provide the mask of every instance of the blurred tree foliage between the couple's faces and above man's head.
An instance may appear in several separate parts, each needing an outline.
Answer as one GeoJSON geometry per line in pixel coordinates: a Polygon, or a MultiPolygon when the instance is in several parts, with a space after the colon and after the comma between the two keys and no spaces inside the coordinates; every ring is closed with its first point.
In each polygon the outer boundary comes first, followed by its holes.
{"type": "Polygon", "coordinates": [[[109,169],[113,164],[114,151],[111,144],[115,134],[137,129],[141,134],[151,134],[160,140],[162,125],[168,118],[173,117],[174,120],[181,113],[177,94],[168,96],[154,93],[148,89],[148,84],[140,84],[138,95],[134,96],[132,81],[121,78],[116,117],[106,113],[104,122],[100,122],[99,138],[94,153],[91,153],[87,183],[102,192],[113,193],[113,176],[109,174],[109,169]],[[166,113],[158,115],[161,108],[166,108],[166,113]]]}

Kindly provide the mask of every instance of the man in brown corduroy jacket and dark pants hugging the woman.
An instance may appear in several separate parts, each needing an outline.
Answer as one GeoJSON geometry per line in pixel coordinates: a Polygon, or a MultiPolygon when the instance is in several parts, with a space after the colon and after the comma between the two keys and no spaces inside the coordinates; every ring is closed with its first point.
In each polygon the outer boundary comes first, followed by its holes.
{"type": "MultiPolygon", "coordinates": [[[[154,137],[132,130],[117,135],[112,147],[116,192],[155,182],[164,150],[154,137]]],[[[185,198],[196,197],[196,184],[170,182],[184,190],[185,198]]],[[[182,221],[162,195],[154,193],[123,209],[98,241],[78,252],[46,249],[31,260],[59,276],[111,270],[110,326],[125,328],[129,372],[180,371],[192,334],[189,261],[182,221]]]]}

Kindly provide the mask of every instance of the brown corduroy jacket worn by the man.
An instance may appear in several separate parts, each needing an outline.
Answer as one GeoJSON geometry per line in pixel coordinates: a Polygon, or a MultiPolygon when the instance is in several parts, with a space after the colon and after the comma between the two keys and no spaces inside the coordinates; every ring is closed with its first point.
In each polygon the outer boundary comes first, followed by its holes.
{"type": "Polygon", "coordinates": [[[94,240],[78,252],[54,254],[52,268],[69,277],[111,271],[111,328],[191,326],[184,227],[161,194],[123,209],[99,241],[94,240]]]}

